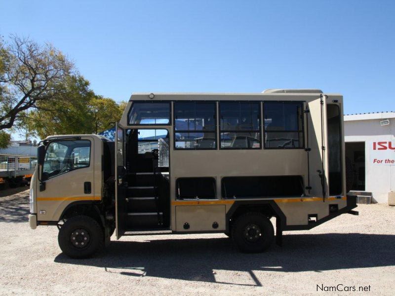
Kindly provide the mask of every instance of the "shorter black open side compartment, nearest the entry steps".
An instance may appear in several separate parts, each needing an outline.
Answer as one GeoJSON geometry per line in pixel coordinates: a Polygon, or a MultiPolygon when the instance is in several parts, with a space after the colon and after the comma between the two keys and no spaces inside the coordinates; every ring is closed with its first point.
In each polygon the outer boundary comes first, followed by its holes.
{"type": "Polygon", "coordinates": [[[215,199],[214,178],[178,178],[177,199],[215,199]]]}

